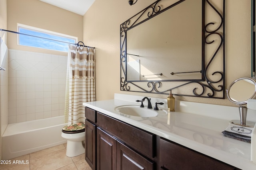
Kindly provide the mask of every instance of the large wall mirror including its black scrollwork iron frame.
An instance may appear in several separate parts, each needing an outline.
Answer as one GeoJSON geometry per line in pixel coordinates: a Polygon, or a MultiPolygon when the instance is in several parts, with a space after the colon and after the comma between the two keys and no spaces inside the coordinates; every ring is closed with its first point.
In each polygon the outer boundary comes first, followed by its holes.
{"type": "Polygon", "coordinates": [[[124,21],[120,90],[169,94],[184,88],[185,94],[173,94],[224,98],[225,0],[218,3],[222,11],[208,0],[157,0],[124,21]]]}

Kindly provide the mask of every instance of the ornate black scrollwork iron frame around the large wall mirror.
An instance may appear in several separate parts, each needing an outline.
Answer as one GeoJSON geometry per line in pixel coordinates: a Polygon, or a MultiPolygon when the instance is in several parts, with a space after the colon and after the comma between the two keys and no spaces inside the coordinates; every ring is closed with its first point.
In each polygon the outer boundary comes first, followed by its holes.
{"type": "MultiPolygon", "coordinates": [[[[120,25],[120,90],[122,91],[130,91],[130,92],[146,92],[146,93],[157,93],[157,94],[169,94],[168,91],[177,89],[177,88],[190,88],[189,84],[195,84],[196,87],[191,88],[191,94],[174,94],[178,96],[192,96],[192,97],[204,97],[204,98],[225,98],[225,90],[224,90],[224,84],[225,84],[225,48],[224,48],[224,14],[225,14],[225,0],[223,0],[222,5],[222,11],[218,11],[214,5],[209,2],[209,0],[202,0],[202,21],[205,21],[206,16],[206,6],[207,9],[213,10],[216,15],[220,18],[220,23],[217,26],[216,29],[210,30],[209,26],[214,25],[215,23],[218,23],[217,21],[211,21],[206,23],[204,22],[204,29],[202,29],[202,40],[204,43],[202,43],[202,56],[205,56],[205,49],[207,48],[207,45],[213,45],[214,42],[216,44],[215,40],[210,40],[209,37],[213,37],[211,35],[215,35],[215,37],[218,38],[218,44],[216,46],[216,51],[209,56],[210,58],[209,62],[206,63],[204,57],[202,57],[202,64],[204,64],[205,67],[202,69],[202,73],[204,76],[204,81],[198,81],[198,80],[158,80],[158,81],[127,81],[127,53],[126,53],[126,31],[136,27],[137,25],[150,20],[150,18],[153,18],[154,16],[157,16],[158,14],[182,3],[184,0],[179,0],[174,4],[170,4],[170,6],[161,9],[161,1],[157,0],[150,6],[146,7],[144,10],[139,12],[138,14],[134,15],[132,18],[126,20],[124,23],[120,25]],[[222,13],[222,14],[221,14],[222,13]],[[220,60],[220,70],[213,71],[215,68],[211,68],[208,70],[208,68],[211,67],[213,61],[220,60]],[[223,62],[223,63],[222,63],[223,62]],[[211,71],[210,71],[211,70],[211,71]],[[210,72],[210,73],[208,73],[210,72]],[[210,75],[209,75],[210,74],[210,75]],[[218,75],[218,76],[217,76],[218,75]],[[210,77],[211,76],[211,77],[210,77]],[[214,77],[215,76],[215,77],[214,77]],[[217,80],[216,80],[217,77],[217,80]],[[212,80],[213,79],[213,80],[212,80]],[[163,83],[167,82],[178,82],[175,86],[166,87],[163,86],[163,83]],[[146,87],[146,88],[145,88],[146,87]],[[197,90],[200,88],[199,90],[197,90]],[[199,93],[197,91],[200,91],[199,93]]],[[[218,19],[219,20],[219,19],[218,19]]],[[[214,46],[214,47],[215,47],[214,46]]],[[[188,91],[186,88],[185,91],[188,91]]]]}

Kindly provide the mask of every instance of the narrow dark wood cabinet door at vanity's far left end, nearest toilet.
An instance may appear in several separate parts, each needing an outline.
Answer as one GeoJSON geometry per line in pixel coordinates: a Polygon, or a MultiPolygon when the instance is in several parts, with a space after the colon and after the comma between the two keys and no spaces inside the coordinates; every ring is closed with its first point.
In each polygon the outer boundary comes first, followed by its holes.
{"type": "Polygon", "coordinates": [[[96,127],[85,120],[85,160],[92,170],[96,170],[96,127]]]}

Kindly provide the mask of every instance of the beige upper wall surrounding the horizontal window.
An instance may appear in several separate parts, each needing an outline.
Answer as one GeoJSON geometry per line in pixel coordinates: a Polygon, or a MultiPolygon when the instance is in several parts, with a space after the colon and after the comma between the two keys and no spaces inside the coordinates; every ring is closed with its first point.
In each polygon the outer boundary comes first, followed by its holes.
{"type": "MultiPolygon", "coordinates": [[[[40,0],[8,0],[8,30],[17,31],[17,23],[38,27],[83,39],[83,17],[40,0]]],[[[66,53],[17,45],[17,35],[8,33],[8,48],[56,55],[66,53]]]]}

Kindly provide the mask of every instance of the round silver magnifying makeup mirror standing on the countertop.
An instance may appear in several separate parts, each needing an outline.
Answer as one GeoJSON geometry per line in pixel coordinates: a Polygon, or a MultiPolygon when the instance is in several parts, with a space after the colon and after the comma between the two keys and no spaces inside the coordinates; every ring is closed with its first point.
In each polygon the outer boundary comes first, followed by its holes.
{"type": "Polygon", "coordinates": [[[254,122],[246,121],[247,107],[242,105],[256,96],[256,81],[252,78],[238,78],[230,84],[226,92],[228,99],[239,106],[240,120],[232,120],[231,123],[254,127],[254,122]]]}

